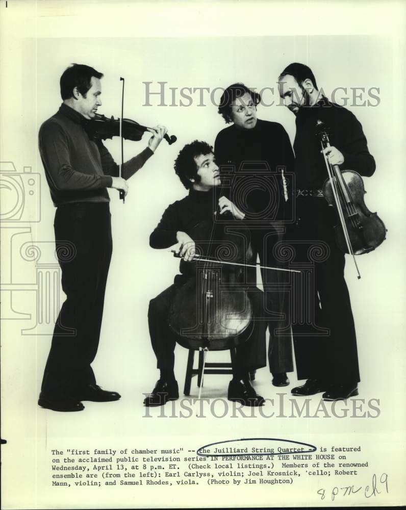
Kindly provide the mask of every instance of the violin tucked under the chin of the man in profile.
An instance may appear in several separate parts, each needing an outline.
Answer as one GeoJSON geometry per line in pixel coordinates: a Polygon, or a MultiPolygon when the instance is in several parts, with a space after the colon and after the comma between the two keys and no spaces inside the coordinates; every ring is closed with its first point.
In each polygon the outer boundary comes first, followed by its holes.
{"type": "MultiPolygon", "coordinates": [[[[141,140],[142,135],[145,131],[148,131],[150,127],[143,126],[131,119],[122,119],[122,127],[120,134],[120,119],[115,119],[113,116],[110,118],[105,117],[96,113],[94,118],[86,123],[86,132],[91,138],[100,140],[106,140],[107,138],[113,138],[113,136],[121,136],[125,140],[134,140],[138,142],[141,140]]],[[[169,145],[172,145],[177,138],[175,135],[169,136],[167,133],[164,135],[164,139],[169,145]]]]}

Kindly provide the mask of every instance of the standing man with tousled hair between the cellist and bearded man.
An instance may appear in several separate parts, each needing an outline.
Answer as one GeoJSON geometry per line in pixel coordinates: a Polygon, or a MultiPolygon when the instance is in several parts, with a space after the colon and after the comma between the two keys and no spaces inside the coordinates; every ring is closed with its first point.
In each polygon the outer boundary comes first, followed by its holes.
{"type": "MultiPolygon", "coordinates": [[[[281,124],[257,118],[261,96],[242,83],[227,87],[218,112],[226,123],[214,144],[222,173],[231,175],[231,199],[249,208],[252,246],[262,266],[281,266],[274,257],[289,221],[284,182],[293,171],[294,156],[288,134],[281,124]]],[[[286,189],[285,189],[286,191],[286,189]]],[[[288,301],[288,273],[261,270],[269,328],[269,369],[274,386],[287,386],[287,372],[293,371],[288,301]]],[[[256,282],[256,272],[251,272],[256,282]]]]}

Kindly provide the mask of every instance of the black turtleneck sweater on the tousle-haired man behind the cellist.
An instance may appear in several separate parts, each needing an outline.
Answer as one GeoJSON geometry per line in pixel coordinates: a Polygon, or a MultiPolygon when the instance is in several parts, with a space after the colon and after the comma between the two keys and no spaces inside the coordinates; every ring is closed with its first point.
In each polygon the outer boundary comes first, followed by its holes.
{"type": "Polygon", "coordinates": [[[280,170],[293,172],[294,156],[281,124],[258,119],[252,129],[235,124],[225,127],[216,137],[214,154],[222,172],[235,172],[230,198],[240,209],[245,208],[238,198],[245,200],[253,212],[268,210],[267,219],[284,217],[286,202],[280,170]],[[269,174],[274,177],[270,179],[269,174]]]}

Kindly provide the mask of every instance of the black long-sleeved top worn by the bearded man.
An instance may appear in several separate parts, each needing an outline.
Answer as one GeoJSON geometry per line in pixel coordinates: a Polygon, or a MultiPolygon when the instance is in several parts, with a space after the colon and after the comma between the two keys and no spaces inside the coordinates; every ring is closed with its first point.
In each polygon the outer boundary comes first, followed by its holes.
{"type": "Polygon", "coordinates": [[[375,161],[369,154],[362,125],[349,110],[322,97],[315,105],[300,108],[296,116],[293,148],[297,189],[321,189],[327,178],[321,145],[316,136],[317,120],[329,128],[330,145],[342,152],[342,170],[355,170],[365,176],[373,174],[375,161]]]}

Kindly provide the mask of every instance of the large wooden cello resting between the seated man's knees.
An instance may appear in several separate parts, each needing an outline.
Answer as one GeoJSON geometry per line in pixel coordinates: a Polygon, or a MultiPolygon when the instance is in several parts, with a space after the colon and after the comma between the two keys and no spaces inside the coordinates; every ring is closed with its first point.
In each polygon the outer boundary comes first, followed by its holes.
{"type": "MultiPolygon", "coordinates": [[[[215,217],[219,217],[217,213],[215,217]]],[[[254,328],[251,287],[244,283],[243,275],[246,267],[258,264],[252,264],[249,230],[238,223],[234,218],[226,224],[204,220],[188,232],[197,254],[195,262],[181,262],[181,272],[185,273],[182,263],[193,264],[194,269],[171,303],[168,325],[177,343],[204,351],[200,374],[208,350],[231,349],[233,361],[234,348],[247,341],[254,328]]]]}

